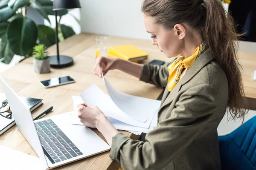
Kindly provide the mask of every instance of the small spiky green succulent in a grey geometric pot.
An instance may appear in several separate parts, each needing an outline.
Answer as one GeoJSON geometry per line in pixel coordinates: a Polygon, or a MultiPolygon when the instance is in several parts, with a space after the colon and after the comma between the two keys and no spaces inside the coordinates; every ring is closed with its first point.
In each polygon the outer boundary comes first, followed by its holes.
{"type": "Polygon", "coordinates": [[[33,48],[34,70],[38,74],[50,72],[50,60],[47,55],[47,47],[44,44],[36,45],[33,48]]]}

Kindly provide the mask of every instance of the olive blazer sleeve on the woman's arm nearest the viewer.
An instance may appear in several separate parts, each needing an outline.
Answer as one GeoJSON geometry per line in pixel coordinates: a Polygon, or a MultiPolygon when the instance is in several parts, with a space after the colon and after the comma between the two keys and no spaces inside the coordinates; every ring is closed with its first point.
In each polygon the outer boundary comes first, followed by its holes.
{"type": "Polygon", "coordinates": [[[145,136],[146,142],[122,133],[113,136],[111,159],[123,169],[162,169],[198,136],[218,109],[220,95],[211,85],[197,85],[180,95],[169,118],[145,136]]]}

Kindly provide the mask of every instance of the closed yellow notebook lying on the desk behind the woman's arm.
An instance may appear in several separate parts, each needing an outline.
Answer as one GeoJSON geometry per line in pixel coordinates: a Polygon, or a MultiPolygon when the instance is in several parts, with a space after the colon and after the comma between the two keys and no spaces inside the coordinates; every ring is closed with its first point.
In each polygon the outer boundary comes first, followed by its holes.
{"type": "Polygon", "coordinates": [[[119,45],[109,48],[108,57],[119,57],[129,61],[140,61],[147,59],[148,53],[134,45],[119,45]]]}

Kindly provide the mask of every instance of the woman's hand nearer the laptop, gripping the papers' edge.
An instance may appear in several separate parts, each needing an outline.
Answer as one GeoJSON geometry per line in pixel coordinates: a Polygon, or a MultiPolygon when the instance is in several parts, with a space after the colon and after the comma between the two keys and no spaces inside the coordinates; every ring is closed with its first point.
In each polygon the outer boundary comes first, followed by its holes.
{"type": "Polygon", "coordinates": [[[84,126],[97,128],[99,120],[106,119],[103,112],[96,106],[79,104],[77,108],[78,117],[84,126]]]}

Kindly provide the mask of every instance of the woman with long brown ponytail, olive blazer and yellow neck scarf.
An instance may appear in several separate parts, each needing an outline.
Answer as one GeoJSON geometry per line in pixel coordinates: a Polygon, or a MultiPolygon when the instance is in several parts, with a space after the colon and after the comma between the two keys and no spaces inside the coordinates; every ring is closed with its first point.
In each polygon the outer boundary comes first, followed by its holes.
{"type": "Polygon", "coordinates": [[[230,15],[218,0],[144,0],[142,11],[152,44],[177,59],[159,67],[99,57],[93,72],[119,69],[166,87],[157,128],[142,142],[119,133],[96,106],[78,105],[78,116],[103,134],[125,170],[220,170],[218,124],[227,107],[233,118],[245,114],[230,15]]]}

